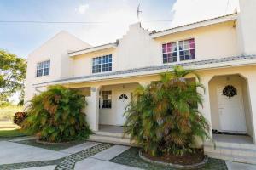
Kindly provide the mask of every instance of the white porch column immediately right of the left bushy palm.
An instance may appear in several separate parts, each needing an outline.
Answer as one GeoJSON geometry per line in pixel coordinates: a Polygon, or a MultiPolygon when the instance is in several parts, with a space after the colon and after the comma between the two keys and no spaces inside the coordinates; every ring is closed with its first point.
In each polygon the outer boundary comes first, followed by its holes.
{"type": "Polygon", "coordinates": [[[90,96],[86,97],[88,104],[85,109],[86,119],[93,131],[99,129],[99,92],[100,87],[91,87],[90,96]]]}

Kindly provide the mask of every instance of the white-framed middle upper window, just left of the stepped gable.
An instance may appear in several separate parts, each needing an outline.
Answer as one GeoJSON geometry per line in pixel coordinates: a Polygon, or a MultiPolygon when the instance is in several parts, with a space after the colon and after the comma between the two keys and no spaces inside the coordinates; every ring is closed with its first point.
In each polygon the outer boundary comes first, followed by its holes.
{"type": "Polygon", "coordinates": [[[92,73],[112,71],[112,54],[92,59],[92,73]]]}

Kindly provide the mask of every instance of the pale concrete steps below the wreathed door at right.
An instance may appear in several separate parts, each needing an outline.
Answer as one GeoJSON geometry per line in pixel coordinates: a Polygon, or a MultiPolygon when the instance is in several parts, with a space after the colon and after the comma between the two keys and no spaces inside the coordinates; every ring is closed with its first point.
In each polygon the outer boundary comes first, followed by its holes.
{"type": "Polygon", "coordinates": [[[256,164],[256,148],[254,144],[236,144],[225,142],[206,142],[204,152],[207,156],[226,161],[256,164]]]}

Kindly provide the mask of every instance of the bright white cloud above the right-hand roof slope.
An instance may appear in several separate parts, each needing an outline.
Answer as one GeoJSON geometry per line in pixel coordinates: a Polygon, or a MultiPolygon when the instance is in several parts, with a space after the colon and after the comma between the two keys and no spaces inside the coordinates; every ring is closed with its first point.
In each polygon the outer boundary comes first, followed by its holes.
{"type": "Polygon", "coordinates": [[[181,26],[234,13],[238,0],[177,0],[172,6],[172,26],[181,26]]]}

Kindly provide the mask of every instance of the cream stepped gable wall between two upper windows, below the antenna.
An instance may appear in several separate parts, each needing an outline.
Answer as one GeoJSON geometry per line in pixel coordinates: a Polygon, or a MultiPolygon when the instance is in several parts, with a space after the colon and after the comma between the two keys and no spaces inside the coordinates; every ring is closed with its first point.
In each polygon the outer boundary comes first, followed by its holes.
{"type": "Polygon", "coordinates": [[[119,39],[116,48],[116,71],[161,65],[161,45],[149,36],[140,23],[129,26],[129,31],[119,39]]]}

